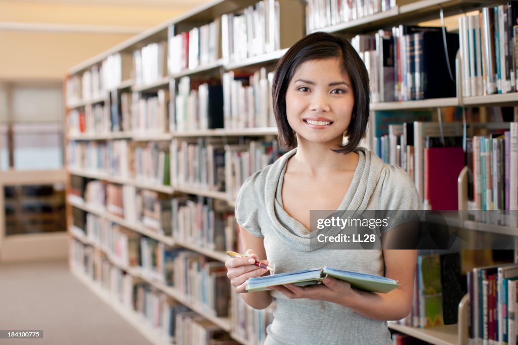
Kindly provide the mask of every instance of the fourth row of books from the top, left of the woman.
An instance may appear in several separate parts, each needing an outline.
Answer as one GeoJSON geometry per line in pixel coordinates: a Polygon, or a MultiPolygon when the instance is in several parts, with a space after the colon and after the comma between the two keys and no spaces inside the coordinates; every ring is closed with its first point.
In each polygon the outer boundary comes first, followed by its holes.
{"type": "MultiPolygon", "coordinates": [[[[170,198],[135,186],[86,180],[74,176],[70,193],[100,210],[106,209],[128,222],[200,248],[235,251],[238,246],[234,210],[224,201],[201,196],[170,198]]],[[[78,213],[76,227],[88,230],[88,224],[85,226],[88,216],[82,215],[78,208],[74,212],[78,213]]],[[[102,228],[97,223],[95,227],[102,228]]]]}

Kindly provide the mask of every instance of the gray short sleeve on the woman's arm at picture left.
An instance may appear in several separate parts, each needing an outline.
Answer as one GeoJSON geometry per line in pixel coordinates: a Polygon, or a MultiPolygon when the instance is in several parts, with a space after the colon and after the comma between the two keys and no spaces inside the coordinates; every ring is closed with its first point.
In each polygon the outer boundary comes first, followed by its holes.
{"type": "Polygon", "coordinates": [[[259,224],[259,211],[261,205],[261,196],[259,191],[264,188],[259,188],[260,172],[250,176],[247,181],[239,189],[236,199],[235,216],[237,223],[257,237],[264,237],[261,232],[259,224]]]}

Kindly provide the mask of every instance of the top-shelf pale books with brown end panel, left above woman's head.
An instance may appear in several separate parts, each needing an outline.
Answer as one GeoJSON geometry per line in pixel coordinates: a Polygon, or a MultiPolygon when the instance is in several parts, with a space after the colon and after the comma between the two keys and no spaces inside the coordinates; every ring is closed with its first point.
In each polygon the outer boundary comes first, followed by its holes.
{"type": "Polygon", "coordinates": [[[296,0],[262,0],[239,12],[223,14],[224,62],[241,62],[290,47],[304,36],[303,18],[304,8],[296,0]]]}

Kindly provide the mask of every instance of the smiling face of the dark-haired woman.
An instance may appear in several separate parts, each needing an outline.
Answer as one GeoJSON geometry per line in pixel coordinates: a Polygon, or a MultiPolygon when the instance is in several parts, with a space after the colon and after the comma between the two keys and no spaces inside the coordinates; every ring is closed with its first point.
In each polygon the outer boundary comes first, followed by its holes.
{"type": "Polygon", "coordinates": [[[286,91],[286,115],[301,141],[341,144],[354,108],[349,76],[338,58],[301,64],[286,91]]]}

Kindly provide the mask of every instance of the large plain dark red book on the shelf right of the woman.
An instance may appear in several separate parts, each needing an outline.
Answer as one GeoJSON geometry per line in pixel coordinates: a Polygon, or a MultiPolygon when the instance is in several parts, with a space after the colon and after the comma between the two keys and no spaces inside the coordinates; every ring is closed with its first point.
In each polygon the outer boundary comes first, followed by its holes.
{"type": "Polygon", "coordinates": [[[462,147],[430,147],[424,151],[425,199],[431,209],[458,209],[457,178],[464,168],[462,147]]]}

